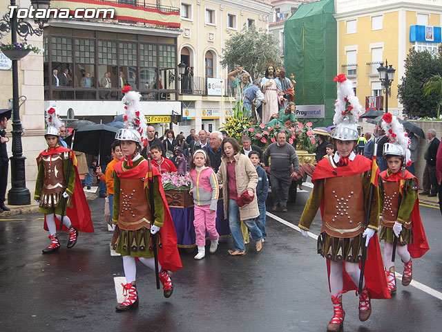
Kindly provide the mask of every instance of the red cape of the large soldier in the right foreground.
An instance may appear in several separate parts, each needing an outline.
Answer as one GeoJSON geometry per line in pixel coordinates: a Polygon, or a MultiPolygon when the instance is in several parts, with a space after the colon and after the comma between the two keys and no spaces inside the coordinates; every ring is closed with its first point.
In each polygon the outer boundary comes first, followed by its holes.
{"type": "MultiPolygon", "coordinates": [[[[335,176],[351,176],[367,172],[369,169],[372,169],[372,160],[369,160],[368,158],[365,158],[358,154],[356,154],[356,157],[351,163],[349,163],[346,166],[337,167],[337,168],[333,168],[332,165],[330,165],[327,158],[324,158],[319,161],[318,165],[316,165],[316,169],[313,174],[314,177],[312,178],[312,180],[316,180],[318,178],[331,178],[335,176]]],[[[378,173],[378,170],[376,170],[376,173],[378,173]]],[[[375,185],[377,185],[377,183],[375,183],[375,185]]],[[[320,204],[321,215],[323,215],[323,210],[324,210],[324,199],[320,204]]],[[[361,267],[361,264],[359,264],[359,267],[361,267]]],[[[329,259],[327,259],[327,274],[330,277],[329,259]]],[[[372,299],[389,299],[391,297],[390,292],[388,291],[387,288],[387,279],[385,278],[385,270],[383,265],[381,248],[379,246],[378,235],[376,233],[368,243],[364,277],[365,277],[365,284],[370,291],[372,299]]],[[[352,278],[349,277],[348,273],[345,270],[345,262],[344,262],[343,282],[344,282],[343,286],[344,292],[353,291],[353,290],[356,291],[358,289],[358,286],[354,284],[352,278]]]]}

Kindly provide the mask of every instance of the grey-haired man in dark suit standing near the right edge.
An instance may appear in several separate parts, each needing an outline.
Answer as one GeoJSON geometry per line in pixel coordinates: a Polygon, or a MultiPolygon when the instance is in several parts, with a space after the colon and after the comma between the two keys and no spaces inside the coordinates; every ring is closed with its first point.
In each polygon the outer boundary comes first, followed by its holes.
{"type": "Polygon", "coordinates": [[[425,163],[425,169],[423,169],[423,192],[420,194],[435,197],[439,190],[439,185],[436,180],[436,155],[441,141],[436,138],[436,131],[434,129],[428,129],[427,138],[429,142],[423,153],[423,158],[427,161],[425,163]]]}

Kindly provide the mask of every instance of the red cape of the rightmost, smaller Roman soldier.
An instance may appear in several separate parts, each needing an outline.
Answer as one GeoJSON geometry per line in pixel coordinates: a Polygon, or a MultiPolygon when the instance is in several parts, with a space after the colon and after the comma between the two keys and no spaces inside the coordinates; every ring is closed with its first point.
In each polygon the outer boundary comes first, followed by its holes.
{"type": "MultiPolygon", "coordinates": [[[[386,170],[380,175],[383,181],[395,181],[394,178],[387,178],[386,170]]],[[[405,169],[403,179],[406,180],[407,178],[416,178],[416,176],[405,169]]],[[[418,182],[418,178],[416,178],[416,182],[418,182]]],[[[414,208],[412,210],[412,222],[413,243],[408,244],[408,252],[410,252],[412,258],[419,258],[425,255],[425,252],[430,250],[430,246],[427,242],[427,236],[425,235],[425,230],[423,229],[421,212],[419,211],[419,199],[416,199],[416,202],[414,203],[414,208]]]]}

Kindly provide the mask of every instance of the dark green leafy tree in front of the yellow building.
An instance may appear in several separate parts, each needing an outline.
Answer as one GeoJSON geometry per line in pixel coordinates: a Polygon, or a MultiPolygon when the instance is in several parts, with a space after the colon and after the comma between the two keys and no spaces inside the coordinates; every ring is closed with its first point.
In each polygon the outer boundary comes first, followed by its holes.
{"type": "Polygon", "coordinates": [[[424,84],[432,75],[442,73],[442,50],[436,56],[428,51],[417,52],[410,49],[405,59],[405,75],[398,85],[398,99],[403,104],[407,116],[436,117],[439,95],[424,94],[424,84]]]}

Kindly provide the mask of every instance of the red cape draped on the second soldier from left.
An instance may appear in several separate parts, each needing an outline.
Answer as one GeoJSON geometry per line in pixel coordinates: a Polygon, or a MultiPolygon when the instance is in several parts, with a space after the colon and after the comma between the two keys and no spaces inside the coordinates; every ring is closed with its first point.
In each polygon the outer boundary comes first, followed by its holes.
{"type": "MultiPolygon", "coordinates": [[[[149,172],[148,160],[142,161],[137,167],[122,170],[123,160],[114,165],[115,172],[120,178],[144,178],[144,187],[148,187],[149,176],[157,176],[158,183],[161,183],[161,174],[156,167],[151,167],[149,172]]],[[[182,268],[180,253],[177,246],[177,233],[171,216],[171,210],[164,194],[163,186],[160,185],[160,194],[164,204],[164,223],[160,228],[162,248],[158,250],[158,261],[165,270],[176,271],[182,268]]]]}

